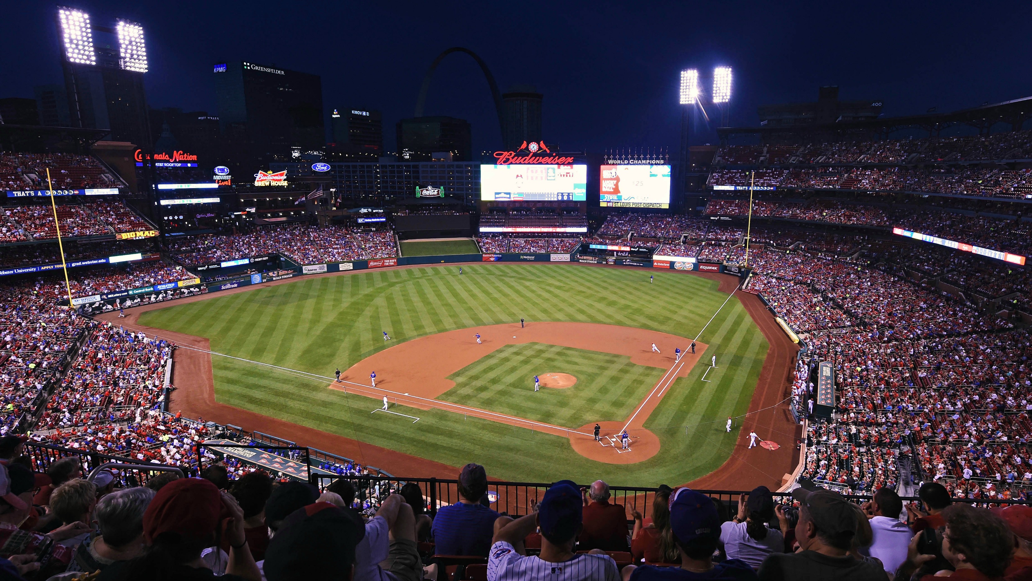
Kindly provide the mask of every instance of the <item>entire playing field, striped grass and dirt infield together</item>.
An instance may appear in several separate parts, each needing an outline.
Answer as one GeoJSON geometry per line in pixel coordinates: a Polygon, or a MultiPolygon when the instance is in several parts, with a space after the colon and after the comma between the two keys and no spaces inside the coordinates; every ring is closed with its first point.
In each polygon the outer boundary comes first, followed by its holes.
{"type": "Polygon", "coordinates": [[[738,423],[727,433],[725,420],[749,409],[768,352],[737,296],[720,309],[717,286],[576,264],[406,267],[212,296],[138,322],[235,357],[212,355],[220,404],[501,479],[677,484],[732,454],[738,423]],[[675,361],[704,326],[699,354],[675,361]],[[391,413],[375,412],[383,396],[391,413]],[[594,442],[594,422],[614,435],[631,426],[630,451],[594,442]]]}

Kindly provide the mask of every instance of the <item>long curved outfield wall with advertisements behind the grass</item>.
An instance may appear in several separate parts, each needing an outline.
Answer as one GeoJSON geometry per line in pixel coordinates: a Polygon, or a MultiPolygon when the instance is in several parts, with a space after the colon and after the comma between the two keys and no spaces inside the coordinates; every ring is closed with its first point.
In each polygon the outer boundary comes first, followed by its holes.
{"type": "MultiPolygon", "coordinates": [[[[449,254],[444,256],[405,256],[396,258],[381,258],[375,260],[352,260],[348,262],[328,262],[325,264],[309,264],[305,266],[292,266],[280,268],[269,272],[241,275],[231,277],[224,281],[213,283],[201,283],[198,279],[181,281],[179,283],[167,283],[139,289],[130,289],[108,293],[105,295],[94,295],[90,297],[76,298],[73,306],[80,306],[88,314],[104,313],[123,308],[138,306],[152,302],[164,302],[174,300],[183,296],[192,296],[198,293],[211,293],[224,290],[231,290],[250,285],[258,285],[271,281],[281,281],[308,275],[322,275],[325,272],[347,272],[348,270],[366,270],[370,268],[384,268],[387,266],[411,266],[421,264],[448,264],[448,263],[469,263],[469,262],[580,262],[585,264],[606,264],[612,266],[638,266],[641,268],[662,268],[683,271],[700,272],[727,272],[729,275],[741,276],[744,272],[736,265],[725,265],[710,262],[686,262],[668,260],[643,260],[638,258],[620,258],[611,256],[582,255],[582,254],[560,254],[560,253],[505,253],[505,254],[449,254]],[[183,289],[184,294],[174,292],[162,293],[161,290],[175,289],[178,287],[189,287],[183,289]],[[192,291],[192,292],[189,292],[192,291]],[[157,293],[157,294],[156,294],[157,293]]],[[[64,301],[67,304],[67,300],[64,301]]]]}

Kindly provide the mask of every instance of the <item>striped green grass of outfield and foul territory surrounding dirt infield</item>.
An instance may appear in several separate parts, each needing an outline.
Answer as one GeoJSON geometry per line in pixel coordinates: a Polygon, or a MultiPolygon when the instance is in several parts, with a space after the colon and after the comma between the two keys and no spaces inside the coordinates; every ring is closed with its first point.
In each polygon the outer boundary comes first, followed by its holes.
{"type": "MultiPolygon", "coordinates": [[[[519,263],[470,264],[464,270],[461,277],[456,268],[428,266],[300,279],[151,311],[140,323],[207,337],[216,352],[330,377],[334,367],[345,369],[397,342],[521,317],[694,337],[727,298],[715,281],[676,271],[519,263]],[[382,330],[395,341],[385,345],[382,330]]],[[[497,478],[678,484],[729,457],[738,434],[724,433],[723,423],[748,410],[768,348],[735,298],[700,341],[720,367],[707,376],[710,383],[699,381],[705,365],[674,383],[646,423],[659,437],[659,453],[627,465],[584,458],[565,438],[440,410],[398,407],[422,418],[415,425],[370,415],[373,399],[253,363],[213,356],[213,368],[220,402],[455,466],[483,463],[497,478]]],[[[539,412],[547,411],[519,415],[539,412]]],[[[555,410],[551,421],[563,413],[555,410]]],[[[376,458],[362,460],[376,465],[376,458]]]]}

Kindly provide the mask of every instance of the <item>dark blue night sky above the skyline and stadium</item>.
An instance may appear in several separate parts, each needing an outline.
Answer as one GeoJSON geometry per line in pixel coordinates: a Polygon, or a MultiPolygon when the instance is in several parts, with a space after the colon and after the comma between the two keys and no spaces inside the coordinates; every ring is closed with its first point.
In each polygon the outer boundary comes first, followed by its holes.
{"type": "MultiPolygon", "coordinates": [[[[61,83],[55,9],[4,3],[0,97],[61,83]]],[[[464,46],[502,91],[545,95],[544,139],[567,151],[676,151],[678,71],[735,69],[733,125],[756,105],[840,98],[884,103],[888,116],[1032,95],[1030,2],[67,2],[94,24],[143,25],[149,104],[217,115],[212,65],[248,60],[322,75],[326,108],[381,109],[388,151],[412,117],[433,57],[464,46]]],[[[501,143],[487,84],[464,55],[438,68],[425,115],[473,125],[474,150],[501,143]]],[[[713,141],[700,130],[694,143],[713,141]]]]}

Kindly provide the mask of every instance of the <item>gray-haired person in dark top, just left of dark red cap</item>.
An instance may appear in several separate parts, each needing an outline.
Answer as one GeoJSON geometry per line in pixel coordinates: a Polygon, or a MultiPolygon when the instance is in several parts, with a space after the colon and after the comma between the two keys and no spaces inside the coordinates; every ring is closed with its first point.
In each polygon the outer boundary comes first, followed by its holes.
{"type": "Polygon", "coordinates": [[[154,494],[150,488],[137,487],[101,497],[94,510],[98,536],[78,546],[67,574],[93,573],[142,554],[143,513],[154,494]]]}

